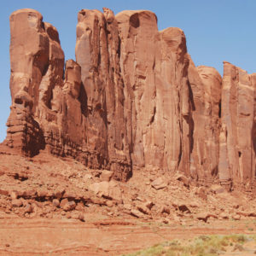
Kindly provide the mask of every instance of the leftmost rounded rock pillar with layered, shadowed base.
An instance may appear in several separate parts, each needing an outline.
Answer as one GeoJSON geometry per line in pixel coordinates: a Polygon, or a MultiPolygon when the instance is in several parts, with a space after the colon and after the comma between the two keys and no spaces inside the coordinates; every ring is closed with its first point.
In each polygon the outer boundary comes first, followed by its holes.
{"type": "Polygon", "coordinates": [[[44,148],[43,133],[34,119],[39,101],[39,84],[49,62],[49,38],[42,15],[20,9],[10,15],[11,113],[6,143],[24,154],[38,154],[44,148]]]}

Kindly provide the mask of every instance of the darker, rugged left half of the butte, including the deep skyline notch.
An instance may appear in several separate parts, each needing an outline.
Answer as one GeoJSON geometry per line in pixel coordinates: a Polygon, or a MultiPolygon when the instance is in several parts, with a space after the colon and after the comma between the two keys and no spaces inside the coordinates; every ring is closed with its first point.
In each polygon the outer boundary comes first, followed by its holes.
{"type": "Polygon", "coordinates": [[[126,180],[131,176],[131,159],[118,28],[114,17],[109,18],[112,11],[104,12],[106,19],[99,11],[88,10],[85,19],[84,11],[79,13],[76,56],[80,65],[68,60],[65,79],[55,27],[32,9],[11,15],[12,107],[5,143],[31,156],[44,148],[70,155],[92,168],[109,168],[113,178],[126,180]]]}

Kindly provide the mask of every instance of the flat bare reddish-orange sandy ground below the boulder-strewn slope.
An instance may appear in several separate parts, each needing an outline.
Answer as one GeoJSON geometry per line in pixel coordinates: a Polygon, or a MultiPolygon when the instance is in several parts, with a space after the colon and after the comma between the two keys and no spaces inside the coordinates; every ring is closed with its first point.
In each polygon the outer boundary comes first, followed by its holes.
{"type": "Polygon", "coordinates": [[[183,226],[120,218],[84,223],[67,218],[2,218],[0,227],[0,255],[120,255],[172,239],[256,234],[256,223],[248,220],[183,226]]]}

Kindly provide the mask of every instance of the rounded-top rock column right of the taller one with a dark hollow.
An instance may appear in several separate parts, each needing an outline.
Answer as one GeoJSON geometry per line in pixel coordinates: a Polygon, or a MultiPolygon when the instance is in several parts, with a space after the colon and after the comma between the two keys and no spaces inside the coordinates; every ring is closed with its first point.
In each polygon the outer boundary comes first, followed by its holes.
{"type": "MultiPolygon", "coordinates": [[[[156,80],[157,125],[163,134],[166,170],[189,175],[193,120],[189,95],[189,55],[181,29],[160,32],[160,80],[156,80]]],[[[157,137],[160,132],[156,132],[157,137]]]]}

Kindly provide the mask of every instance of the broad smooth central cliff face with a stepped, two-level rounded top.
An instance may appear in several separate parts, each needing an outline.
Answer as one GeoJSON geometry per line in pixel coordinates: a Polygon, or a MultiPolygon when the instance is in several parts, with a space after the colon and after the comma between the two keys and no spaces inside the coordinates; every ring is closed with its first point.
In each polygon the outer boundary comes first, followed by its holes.
{"type": "Polygon", "coordinates": [[[184,34],[177,28],[159,32],[150,11],[123,11],[116,19],[133,165],[188,171],[189,58],[184,34]]]}

